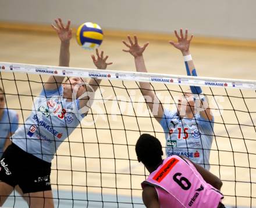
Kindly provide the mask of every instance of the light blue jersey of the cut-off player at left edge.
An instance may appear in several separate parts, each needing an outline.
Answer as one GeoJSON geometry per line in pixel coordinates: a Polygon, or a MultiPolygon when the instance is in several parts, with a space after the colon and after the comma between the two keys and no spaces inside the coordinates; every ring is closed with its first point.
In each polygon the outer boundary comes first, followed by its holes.
{"type": "Polygon", "coordinates": [[[0,158],[3,154],[3,147],[9,134],[15,133],[18,128],[19,116],[17,112],[9,109],[3,109],[2,118],[0,120],[0,158]]]}

